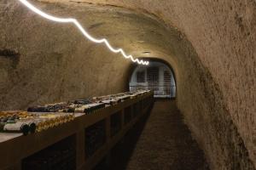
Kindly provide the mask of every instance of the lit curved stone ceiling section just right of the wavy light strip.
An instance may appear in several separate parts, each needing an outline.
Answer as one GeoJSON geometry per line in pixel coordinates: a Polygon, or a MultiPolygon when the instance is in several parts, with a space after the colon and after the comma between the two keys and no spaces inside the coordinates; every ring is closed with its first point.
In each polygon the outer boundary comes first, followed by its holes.
{"type": "MultiPolygon", "coordinates": [[[[170,58],[170,49],[179,33],[175,29],[167,29],[154,15],[113,6],[70,2],[54,3],[52,8],[58,10],[55,14],[76,18],[94,37],[106,37],[113,47],[124,48],[127,54],[135,57],[164,58],[175,65],[173,58],[170,58]],[[69,10],[58,9],[61,6],[68,6],[69,10]],[[70,10],[76,11],[75,14],[71,14],[70,10]],[[143,54],[148,51],[149,55],[143,54]]],[[[53,12],[49,8],[44,11],[49,14],[53,12]]]]}

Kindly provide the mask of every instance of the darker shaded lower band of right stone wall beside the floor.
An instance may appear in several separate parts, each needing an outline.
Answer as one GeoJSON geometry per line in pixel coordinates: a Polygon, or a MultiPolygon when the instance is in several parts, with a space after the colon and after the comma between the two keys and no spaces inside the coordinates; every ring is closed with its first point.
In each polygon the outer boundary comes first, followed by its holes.
{"type": "Polygon", "coordinates": [[[180,45],[186,58],[180,58],[183,69],[177,77],[177,102],[211,169],[255,169],[218,84],[192,46],[184,42],[180,45]]]}

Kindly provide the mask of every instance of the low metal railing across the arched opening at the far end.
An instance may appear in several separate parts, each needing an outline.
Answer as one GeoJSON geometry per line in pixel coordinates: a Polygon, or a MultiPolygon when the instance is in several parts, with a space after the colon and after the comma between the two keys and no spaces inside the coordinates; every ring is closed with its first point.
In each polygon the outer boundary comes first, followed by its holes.
{"type": "Polygon", "coordinates": [[[152,90],[154,91],[154,98],[172,98],[176,97],[176,86],[174,85],[164,85],[164,86],[144,86],[144,85],[132,85],[130,86],[130,91],[135,90],[152,90]]]}

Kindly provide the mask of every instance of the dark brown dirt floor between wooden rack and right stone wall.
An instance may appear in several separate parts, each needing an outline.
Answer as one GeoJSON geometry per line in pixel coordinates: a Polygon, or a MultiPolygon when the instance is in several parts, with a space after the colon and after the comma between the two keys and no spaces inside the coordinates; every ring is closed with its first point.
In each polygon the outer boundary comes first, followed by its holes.
{"type": "Polygon", "coordinates": [[[111,155],[96,169],[209,169],[173,100],[155,101],[150,114],[126,134],[111,155]]]}

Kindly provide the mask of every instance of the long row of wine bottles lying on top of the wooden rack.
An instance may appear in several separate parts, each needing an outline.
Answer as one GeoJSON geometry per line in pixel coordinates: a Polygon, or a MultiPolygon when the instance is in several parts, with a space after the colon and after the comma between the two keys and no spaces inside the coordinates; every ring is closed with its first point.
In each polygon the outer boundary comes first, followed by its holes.
{"type": "Polygon", "coordinates": [[[148,93],[140,90],[121,94],[111,94],[91,99],[76,99],[48,105],[29,107],[27,111],[0,112],[0,132],[35,133],[55,127],[74,119],[74,113],[90,114],[110,105],[117,105],[126,99],[148,93]]]}

